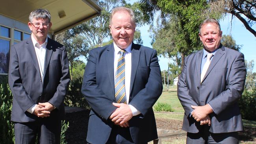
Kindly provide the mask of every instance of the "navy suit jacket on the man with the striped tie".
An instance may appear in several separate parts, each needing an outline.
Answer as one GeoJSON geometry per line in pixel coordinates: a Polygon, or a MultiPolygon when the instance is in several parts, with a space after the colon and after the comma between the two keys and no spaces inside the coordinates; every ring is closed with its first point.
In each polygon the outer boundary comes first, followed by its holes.
{"type": "MultiPolygon", "coordinates": [[[[115,111],[113,43],[89,52],[83,76],[82,93],[92,107],[89,115],[87,141],[107,142],[113,122],[109,116],[115,111]]],[[[130,134],[136,144],[156,139],[156,122],[152,106],[162,92],[161,72],[156,50],[132,44],[132,71],[129,104],[141,114],[129,121],[130,134]]]]}

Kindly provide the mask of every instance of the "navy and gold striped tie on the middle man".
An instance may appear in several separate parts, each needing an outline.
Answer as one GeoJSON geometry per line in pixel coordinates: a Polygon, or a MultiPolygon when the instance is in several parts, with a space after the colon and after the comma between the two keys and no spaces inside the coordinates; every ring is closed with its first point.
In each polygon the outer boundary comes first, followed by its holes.
{"type": "Polygon", "coordinates": [[[125,60],[124,60],[125,50],[120,50],[118,54],[120,57],[117,61],[117,70],[115,75],[115,101],[117,103],[126,103],[125,94],[125,60]]]}

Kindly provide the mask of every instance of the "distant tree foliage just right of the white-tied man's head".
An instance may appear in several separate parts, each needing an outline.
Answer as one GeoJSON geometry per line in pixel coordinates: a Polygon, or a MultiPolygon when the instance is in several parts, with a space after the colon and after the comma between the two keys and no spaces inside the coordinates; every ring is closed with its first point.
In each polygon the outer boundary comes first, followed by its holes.
{"type": "Polygon", "coordinates": [[[226,46],[227,48],[231,48],[233,50],[240,51],[242,45],[236,44],[236,41],[233,39],[231,35],[223,35],[221,37],[221,44],[226,46]]]}

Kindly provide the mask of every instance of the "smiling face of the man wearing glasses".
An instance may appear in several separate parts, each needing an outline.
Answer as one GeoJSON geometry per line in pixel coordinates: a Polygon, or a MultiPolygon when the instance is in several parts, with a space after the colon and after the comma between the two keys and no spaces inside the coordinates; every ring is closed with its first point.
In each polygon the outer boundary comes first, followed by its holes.
{"type": "Polygon", "coordinates": [[[52,26],[52,23],[50,22],[47,27],[43,26],[42,23],[49,23],[48,18],[46,19],[35,19],[33,18],[32,22],[28,22],[28,27],[32,31],[32,36],[35,38],[39,44],[42,44],[45,42],[48,31],[50,30],[50,27],[52,26]],[[40,24],[39,28],[35,28],[35,24],[40,24]]]}

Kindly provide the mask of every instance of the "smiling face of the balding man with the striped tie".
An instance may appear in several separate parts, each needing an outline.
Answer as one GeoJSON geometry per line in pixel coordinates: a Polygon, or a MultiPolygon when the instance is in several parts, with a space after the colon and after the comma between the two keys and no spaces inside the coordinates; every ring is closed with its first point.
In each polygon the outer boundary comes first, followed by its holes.
{"type": "Polygon", "coordinates": [[[116,12],[109,25],[110,33],[115,44],[125,49],[134,39],[135,24],[132,22],[131,16],[126,11],[116,12]]]}

